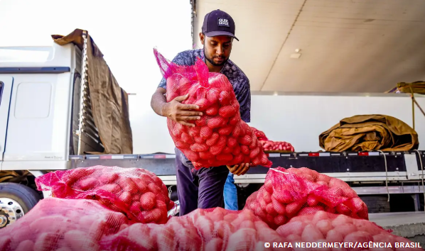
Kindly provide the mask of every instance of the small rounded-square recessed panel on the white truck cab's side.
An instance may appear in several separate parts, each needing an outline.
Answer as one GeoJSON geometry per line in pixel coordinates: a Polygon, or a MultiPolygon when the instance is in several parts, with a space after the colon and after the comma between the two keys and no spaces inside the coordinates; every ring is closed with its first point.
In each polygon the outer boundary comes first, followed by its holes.
{"type": "Polygon", "coordinates": [[[47,118],[50,112],[52,84],[23,82],[17,86],[15,118],[47,118]]]}

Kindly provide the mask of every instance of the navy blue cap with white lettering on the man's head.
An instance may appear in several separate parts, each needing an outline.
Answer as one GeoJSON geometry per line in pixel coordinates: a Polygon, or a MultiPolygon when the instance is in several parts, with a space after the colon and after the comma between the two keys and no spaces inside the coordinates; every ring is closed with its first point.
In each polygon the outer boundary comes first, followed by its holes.
{"type": "Polygon", "coordinates": [[[235,38],[235,21],[225,11],[215,10],[205,15],[202,33],[208,37],[227,35],[235,38]]]}

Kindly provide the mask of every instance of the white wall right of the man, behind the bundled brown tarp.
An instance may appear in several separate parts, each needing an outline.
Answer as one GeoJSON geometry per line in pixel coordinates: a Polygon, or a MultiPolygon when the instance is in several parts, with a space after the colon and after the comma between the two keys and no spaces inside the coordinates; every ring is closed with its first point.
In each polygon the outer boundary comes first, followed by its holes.
{"type": "MultiPolygon", "coordinates": [[[[416,98],[425,107],[425,97],[416,98]]],[[[253,95],[253,127],[267,138],[287,141],[296,152],[316,152],[318,137],[343,118],[362,114],[383,114],[412,126],[411,99],[404,94],[382,96],[253,95]]],[[[419,150],[425,150],[425,117],[415,108],[419,150]]]]}

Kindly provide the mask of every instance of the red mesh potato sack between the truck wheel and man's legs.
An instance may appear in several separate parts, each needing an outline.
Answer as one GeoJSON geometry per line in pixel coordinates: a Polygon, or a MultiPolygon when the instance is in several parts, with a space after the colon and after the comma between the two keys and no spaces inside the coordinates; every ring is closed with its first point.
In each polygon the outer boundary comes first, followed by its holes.
{"type": "Polygon", "coordinates": [[[166,223],[174,202],[153,172],[141,168],[95,166],[49,172],[36,179],[38,190],[63,199],[93,199],[125,213],[130,221],[166,223]]]}

